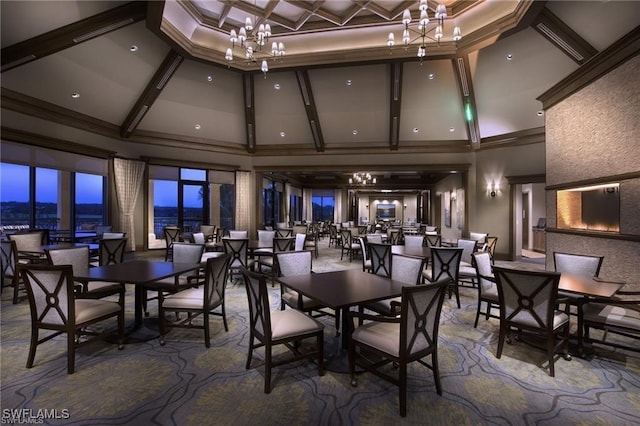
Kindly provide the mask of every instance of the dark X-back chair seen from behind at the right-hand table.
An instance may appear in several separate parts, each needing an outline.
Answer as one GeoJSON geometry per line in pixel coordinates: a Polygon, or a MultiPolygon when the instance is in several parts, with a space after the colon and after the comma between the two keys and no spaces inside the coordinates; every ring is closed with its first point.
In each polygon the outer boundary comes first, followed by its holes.
{"type": "Polygon", "coordinates": [[[569,315],[556,309],[560,274],[552,271],[525,271],[495,266],[500,305],[500,335],[496,358],[502,356],[504,341],[511,343],[511,332],[518,336],[534,334],[545,340],[549,375],[555,376],[555,354],[562,348],[563,357],[571,360],[569,315]],[[556,342],[556,338],[559,338],[556,342]]]}

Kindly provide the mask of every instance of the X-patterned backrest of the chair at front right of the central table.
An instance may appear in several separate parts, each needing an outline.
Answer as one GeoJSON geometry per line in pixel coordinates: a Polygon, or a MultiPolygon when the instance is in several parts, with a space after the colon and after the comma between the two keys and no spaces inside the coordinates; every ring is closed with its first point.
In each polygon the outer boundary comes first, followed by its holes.
{"type": "Polygon", "coordinates": [[[438,345],[440,313],[448,280],[402,288],[400,356],[416,359],[438,345]]]}

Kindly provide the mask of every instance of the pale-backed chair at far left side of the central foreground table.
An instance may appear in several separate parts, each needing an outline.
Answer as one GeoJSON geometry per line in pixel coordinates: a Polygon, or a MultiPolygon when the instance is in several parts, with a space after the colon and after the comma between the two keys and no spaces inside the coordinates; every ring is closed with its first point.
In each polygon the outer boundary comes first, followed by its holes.
{"type": "MultiPolygon", "coordinates": [[[[278,275],[280,277],[288,277],[292,275],[308,275],[312,271],[311,251],[290,251],[276,254],[276,264],[278,275]]],[[[336,336],[340,335],[340,312],[330,312],[325,306],[321,305],[317,300],[303,296],[297,291],[280,284],[280,309],[289,306],[293,309],[308,313],[315,317],[332,316],[335,318],[336,336]]]]}

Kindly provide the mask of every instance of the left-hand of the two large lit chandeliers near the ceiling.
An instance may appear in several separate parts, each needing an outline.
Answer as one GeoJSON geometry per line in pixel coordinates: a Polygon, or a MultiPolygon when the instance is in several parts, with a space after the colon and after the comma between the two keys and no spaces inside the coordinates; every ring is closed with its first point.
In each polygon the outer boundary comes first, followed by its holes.
{"type": "Polygon", "coordinates": [[[247,17],[245,20],[244,26],[238,30],[231,30],[229,33],[229,41],[231,42],[231,47],[227,48],[227,52],[224,55],[224,58],[228,63],[233,61],[233,51],[236,46],[244,49],[244,56],[248,62],[257,63],[260,59],[262,59],[260,70],[264,73],[265,78],[267,78],[267,71],[269,71],[269,65],[267,64],[268,57],[282,57],[285,55],[284,43],[273,42],[271,44],[271,55],[265,50],[263,50],[264,46],[269,43],[269,37],[271,37],[271,25],[269,24],[260,24],[258,26],[258,31],[254,33],[253,21],[250,17],[247,17]]]}

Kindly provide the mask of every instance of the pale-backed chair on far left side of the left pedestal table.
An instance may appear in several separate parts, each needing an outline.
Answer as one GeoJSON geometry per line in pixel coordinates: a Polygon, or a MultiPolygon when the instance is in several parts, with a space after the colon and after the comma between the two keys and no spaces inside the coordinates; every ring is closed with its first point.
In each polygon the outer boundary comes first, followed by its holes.
{"type": "MultiPolygon", "coordinates": [[[[49,264],[71,265],[74,275],[86,271],[89,267],[89,246],[49,249],[45,251],[49,264]]],[[[118,303],[124,307],[126,288],[121,283],[104,281],[76,282],[75,296],[78,299],[103,299],[118,296],[118,303]]]]}

